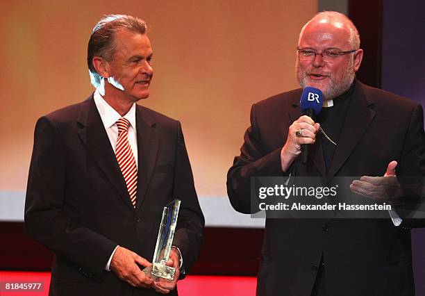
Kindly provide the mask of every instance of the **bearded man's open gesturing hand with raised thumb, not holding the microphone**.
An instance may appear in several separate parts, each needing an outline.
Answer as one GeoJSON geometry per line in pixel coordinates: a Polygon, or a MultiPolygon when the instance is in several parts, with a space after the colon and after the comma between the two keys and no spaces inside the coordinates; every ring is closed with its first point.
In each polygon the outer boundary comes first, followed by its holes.
{"type": "Polygon", "coordinates": [[[392,161],[388,164],[387,171],[383,176],[362,176],[360,180],[354,180],[350,185],[350,190],[358,195],[388,204],[401,204],[402,195],[395,167],[397,167],[397,161],[392,161]]]}

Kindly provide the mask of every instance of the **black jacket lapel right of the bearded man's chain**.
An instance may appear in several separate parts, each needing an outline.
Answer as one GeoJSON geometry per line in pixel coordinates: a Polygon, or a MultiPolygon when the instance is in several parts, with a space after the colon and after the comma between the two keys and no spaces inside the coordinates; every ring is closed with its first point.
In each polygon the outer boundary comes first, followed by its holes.
{"type": "Polygon", "coordinates": [[[369,108],[373,99],[367,95],[363,83],[356,81],[356,88],[351,97],[347,119],[341,131],[340,140],[328,171],[328,178],[337,174],[344,165],[357,143],[362,138],[367,127],[375,116],[375,111],[369,108]]]}

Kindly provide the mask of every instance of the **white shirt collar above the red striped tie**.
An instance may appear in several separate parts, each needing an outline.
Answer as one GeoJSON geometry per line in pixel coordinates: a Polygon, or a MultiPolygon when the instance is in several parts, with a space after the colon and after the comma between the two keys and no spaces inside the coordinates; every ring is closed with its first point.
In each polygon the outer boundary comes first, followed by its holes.
{"type": "Polygon", "coordinates": [[[96,90],[94,92],[93,98],[94,104],[96,104],[97,110],[99,111],[105,129],[109,129],[121,117],[126,118],[130,122],[133,129],[135,129],[135,103],[133,104],[133,106],[131,106],[130,110],[128,110],[126,115],[121,116],[114,108],[112,108],[105,101],[105,99],[103,99],[103,97],[99,93],[99,90],[96,90]]]}

